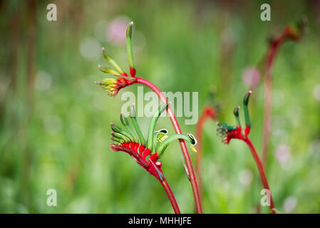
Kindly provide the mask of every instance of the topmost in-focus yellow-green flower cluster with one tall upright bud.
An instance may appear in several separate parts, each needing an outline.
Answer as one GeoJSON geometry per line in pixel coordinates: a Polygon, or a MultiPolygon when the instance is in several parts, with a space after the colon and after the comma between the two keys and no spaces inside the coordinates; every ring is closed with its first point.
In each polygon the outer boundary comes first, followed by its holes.
{"type": "Polygon", "coordinates": [[[102,48],[103,57],[106,61],[108,61],[115,70],[99,65],[98,68],[103,73],[111,73],[113,76],[116,76],[117,79],[114,78],[105,78],[102,81],[96,81],[95,83],[100,85],[110,96],[115,96],[118,94],[121,88],[125,88],[126,86],[130,86],[135,83],[135,67],[133,64],[133,51],[131,47],[131,35],[132,35],[133,22],[130,22],[127,28],[127,51],[128,51],[128,59],[129,59],[129,69],[130,76],[128,73],[125,73],[118,64],[111,58],[108,53],[105,52],[105,48],[102,48]]]}

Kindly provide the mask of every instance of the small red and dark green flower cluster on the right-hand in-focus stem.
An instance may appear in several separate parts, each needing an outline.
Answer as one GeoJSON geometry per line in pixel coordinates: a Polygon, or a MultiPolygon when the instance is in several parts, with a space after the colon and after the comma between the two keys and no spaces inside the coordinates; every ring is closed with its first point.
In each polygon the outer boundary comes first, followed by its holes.
{"type": "Polygon", "coordinates": [[[240,119],[239,119],[239,106],[234,108],[234,116],[237,120],[237,125],[228,125],[227,123],[217,123],[218,128],[217,128],[217,135],[219,135],[222,138],[222,142],[224,144],[229,144],[230,140],[236,138],[239,140],[245,140],[247,136],[250,133],[251,129],[251,123],[250,123],[250,118],[249,118],[249,111],[248,111],[248,102],[249,102],[249,97],[251,95],[252,91],[249,90],[249,92],[244,95],[243,99],[243,105],[244,105],[244,120],[246,127],[244,128],[244,132],[242,130],[241,124],[240,124],[240,119]]]}

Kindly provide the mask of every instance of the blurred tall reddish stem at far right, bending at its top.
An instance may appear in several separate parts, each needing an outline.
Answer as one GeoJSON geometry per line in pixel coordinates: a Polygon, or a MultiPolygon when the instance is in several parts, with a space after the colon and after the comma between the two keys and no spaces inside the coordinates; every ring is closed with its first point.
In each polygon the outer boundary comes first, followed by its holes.
{"type": "Polygon", "coordinates": [[[286,33],[279,36],[270,46],[267,56],[267,66],[264,77],[264,120],[262,130],[262,165],[266,167],[271,133],[272,115],[272,66],[281,43],[286,39],[286,33]]]}

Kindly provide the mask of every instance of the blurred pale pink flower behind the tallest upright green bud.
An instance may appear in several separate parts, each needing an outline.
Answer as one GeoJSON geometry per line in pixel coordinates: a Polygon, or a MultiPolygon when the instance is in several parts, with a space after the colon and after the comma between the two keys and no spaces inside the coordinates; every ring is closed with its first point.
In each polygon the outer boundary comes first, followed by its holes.
{"type": "Polygon", "coordinates": [[[126,16],[118,16],[113,19],[107,26],[105,36],[110,43],[114,45],[122,45],[125,43],[125,31],[130,22],[130,19],[126,16]]]}

